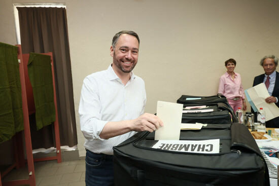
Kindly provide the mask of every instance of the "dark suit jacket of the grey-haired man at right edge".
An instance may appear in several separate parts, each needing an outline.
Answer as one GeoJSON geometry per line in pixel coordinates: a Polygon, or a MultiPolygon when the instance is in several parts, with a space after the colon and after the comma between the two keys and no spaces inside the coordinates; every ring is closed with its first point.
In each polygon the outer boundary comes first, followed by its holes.
{"type": "MultiPolygon", "coordinates": [[[[263,83],[264,79],[264,73],[260,76],[255,77],[253,82],[253,87],[256,85],[259,85],[260,83],[263,83]]],[[[276,71],[276,79],[275,79],[275,85],[272,92],[272,96],[277,97],[278,102],[275,103],[279,107],[279,72],[276,71]]],[[[253,109],[252,109],[253,110],[253,109]]],[[[279,127],[279,117],[272,119],[274,124],[279,127]]]]}

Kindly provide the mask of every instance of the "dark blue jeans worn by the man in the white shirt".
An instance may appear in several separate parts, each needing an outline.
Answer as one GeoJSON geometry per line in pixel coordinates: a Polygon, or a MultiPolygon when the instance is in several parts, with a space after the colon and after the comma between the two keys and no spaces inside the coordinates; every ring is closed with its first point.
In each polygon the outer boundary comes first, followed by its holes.
{"type": "Polygon", "coordinates": [[[113,156],[92,153],[86,150],[86,186],[114,185],[113,156]]]}

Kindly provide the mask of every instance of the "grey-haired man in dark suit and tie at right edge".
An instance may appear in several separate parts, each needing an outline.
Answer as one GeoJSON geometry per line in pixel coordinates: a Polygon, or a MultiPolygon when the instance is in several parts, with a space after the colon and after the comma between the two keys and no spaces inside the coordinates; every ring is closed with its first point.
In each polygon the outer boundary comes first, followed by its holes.
{"type": "MultiPolygon", "coordinates": [[[[270,95],[265,101],[267,103],[275,103],[279,107],[279,73],[275,71],[278,65],[278,58],[274,55],[265,56],[261,59],[260,64],[265,73],[255,77],[253,87],[260,83],[264,83],[270,95]]],[[[279,128],[279,117],[267,121],[266,127],[279,128]]]]}

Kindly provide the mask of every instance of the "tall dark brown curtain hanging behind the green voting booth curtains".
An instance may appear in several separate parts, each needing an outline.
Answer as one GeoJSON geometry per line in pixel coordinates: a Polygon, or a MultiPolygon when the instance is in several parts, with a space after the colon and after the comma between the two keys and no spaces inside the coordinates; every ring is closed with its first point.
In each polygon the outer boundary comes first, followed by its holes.
{"type": "MultiPolygon", "coordinates": [[[[22,53],[53,53],[61,145],[78,143],[66,9],[18,7],[22,53]]],[[[33,148],[55,146],[53,126],[37,131],[30,116],[33,148]]]]}

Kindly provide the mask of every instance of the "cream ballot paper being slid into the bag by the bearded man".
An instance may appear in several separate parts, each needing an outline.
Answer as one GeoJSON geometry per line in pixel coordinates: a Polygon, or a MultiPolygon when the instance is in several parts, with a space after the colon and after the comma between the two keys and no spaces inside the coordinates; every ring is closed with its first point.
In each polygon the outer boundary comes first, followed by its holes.
{"type": "Polygon", "coordinates": [[[155,140],[179,140],[183,104],[158,101],[157,116],[164,123],[155,131],[155,140]]]}

